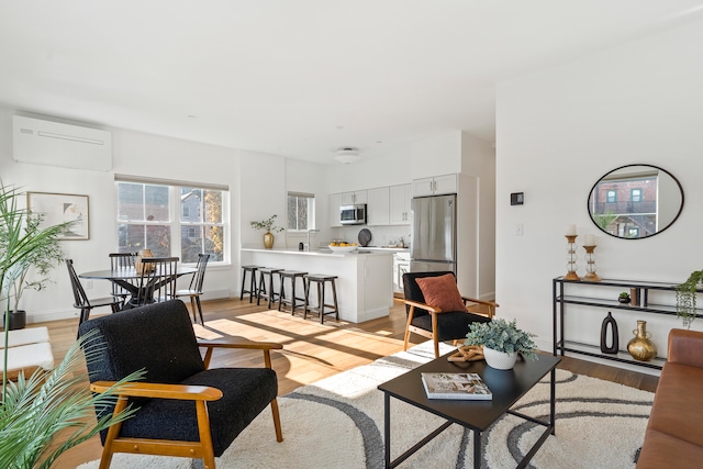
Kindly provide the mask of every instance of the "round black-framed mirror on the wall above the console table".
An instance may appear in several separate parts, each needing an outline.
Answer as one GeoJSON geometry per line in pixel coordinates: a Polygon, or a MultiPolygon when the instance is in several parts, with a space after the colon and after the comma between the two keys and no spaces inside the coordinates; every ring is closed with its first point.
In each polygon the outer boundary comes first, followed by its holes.
{"type": "Polygon", "coordinates": [[[589,215],[611,236],[639,239],[661,233],[683,209],[683,189],[669,171],[627,165],[603,176],[591,189],[589,215]]]}

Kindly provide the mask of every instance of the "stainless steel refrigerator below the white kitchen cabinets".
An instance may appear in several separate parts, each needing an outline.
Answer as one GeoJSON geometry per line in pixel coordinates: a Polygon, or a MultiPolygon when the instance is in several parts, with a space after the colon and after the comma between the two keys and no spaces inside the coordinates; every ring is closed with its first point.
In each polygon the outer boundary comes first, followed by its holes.
{"type": "Polygon", "coordinates": [[[457,272],[457,197],[420,197],[411,201],[413,238],[410,271],[457,272]]]}

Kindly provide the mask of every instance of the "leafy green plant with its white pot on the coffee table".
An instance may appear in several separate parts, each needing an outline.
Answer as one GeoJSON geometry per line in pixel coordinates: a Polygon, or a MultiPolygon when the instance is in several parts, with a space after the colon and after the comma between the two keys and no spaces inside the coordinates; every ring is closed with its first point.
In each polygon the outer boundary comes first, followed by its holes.
{"type": "Polygon", "coordinates": [[[515,320],[495,319],[488,323],[473,323],[467,334],[466,345],[482,345],[486,362],[491,368],[509,370],[515,365],[517,354],[536,358],[535,334],[517,328],[515,320]]]}

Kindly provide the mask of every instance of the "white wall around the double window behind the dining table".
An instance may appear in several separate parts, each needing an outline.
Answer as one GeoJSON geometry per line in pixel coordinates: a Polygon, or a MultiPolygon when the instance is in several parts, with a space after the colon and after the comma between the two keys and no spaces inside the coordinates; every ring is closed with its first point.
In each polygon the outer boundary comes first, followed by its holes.
{"type": "MultiPolygon", "coordinates": [[[[18,114],[62,121],[56,118],[18,114]]],[[[278,213],[286,224],[286,166],[276,156],[230,149],[168,138],[122,129],[112,132],[113,169],[91,171],[15,163],[12,159],[12,115],[15,110],[0,107],[0,176],[5,185],[25,191],[78,193],[89,197],[90,239],[62,242],[68,258],[80,271],[109,267],[108,253],[116,249],[116,206],[114,174],[149,176],[230,186],[231,236],[227,239],[232,264],[208,268],[205,299],[230,297],[239,289],[241,243],[263,244],[260,232],[249,221],[278,213]],[[241,230],[242,228],[242,230],[241,230]],[[242,238],[241,238],[242,233],[242,238]]],[[[63,121],[81,124],[79,122],[63,121]]],[[[304,186],[304,185],[303,185],[304,186]]],[[[299,190],[304,190],[301,186],[299,190]]],[[[326,199],[326,194],[324,197],[326,199]]],[[[283,234],[281,234],[283,236],[283,234]]],[[[284,236],[281,239],[284,243],[284,236]]],[[[65,266],[53,271],[53,283],[42,292],[27,291],[21,306],[30,322],[77,316],[65,266]]],[[[94,281],[90,297],[107,295],[109,283],[94,281]]]]}

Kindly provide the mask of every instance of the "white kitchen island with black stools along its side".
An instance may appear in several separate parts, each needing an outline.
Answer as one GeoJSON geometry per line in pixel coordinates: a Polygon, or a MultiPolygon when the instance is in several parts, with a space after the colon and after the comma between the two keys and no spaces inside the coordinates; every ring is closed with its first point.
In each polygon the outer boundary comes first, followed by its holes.
{"type": "MultiPolygon", "coordinates": [[[[392,294],[392,252],[359,249],[352,253],[332,253],[330,249],[263,249],[242,248],[242,265],[257,265],[286,270],[302,270],[309,273],[337,276],[337,303],[339,319],[360,323],[388,316],[393,304],[392,294]]],[[[277,277],[275,277],[276,280],[277,277]]],[[[278,291],[279,284],[275,288],[278,291]]],[[[300,291],[300,283],[297,293],[300,291]]],[[[302,294],[298,294],[302,297],[302,294]]],[[[286,284],[286,298],[290,298],[289,284],[286,284]]],[[[325,302],[332,300],[330,287],[325,291],[325,302]]],[[[316,290],[313,286],[310,301],[316,304],[316,290]]]]}

